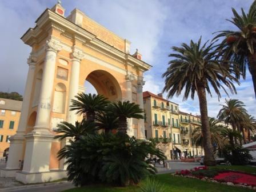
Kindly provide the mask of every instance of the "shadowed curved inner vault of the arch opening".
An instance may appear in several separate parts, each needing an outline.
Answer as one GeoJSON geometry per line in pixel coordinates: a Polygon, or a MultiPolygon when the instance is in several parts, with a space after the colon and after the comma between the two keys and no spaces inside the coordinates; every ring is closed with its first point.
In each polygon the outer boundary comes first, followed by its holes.
{"type": "Polygon", "coordinates": [[[94,70],[87,75],[85,81],[90,82],[97,93],[105,96],[109,101],[122,99],[122,91],[117,79],[107,71],[94,70]]]}

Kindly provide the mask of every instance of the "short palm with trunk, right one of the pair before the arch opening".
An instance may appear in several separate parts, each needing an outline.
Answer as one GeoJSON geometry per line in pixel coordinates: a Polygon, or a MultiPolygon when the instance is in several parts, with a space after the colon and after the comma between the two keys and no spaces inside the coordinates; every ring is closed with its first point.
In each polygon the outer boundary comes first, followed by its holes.
{"type": "Polygon", "coordinates": [[[130,103],[130,101],[118,101],[111,103],[109,111],[114,117],[118,117],[118,127],[117,130],[120,133],[127,133],[127,118],[143,119],[143,110],[139,108],[139,105],[135,103],[130,103]]]}

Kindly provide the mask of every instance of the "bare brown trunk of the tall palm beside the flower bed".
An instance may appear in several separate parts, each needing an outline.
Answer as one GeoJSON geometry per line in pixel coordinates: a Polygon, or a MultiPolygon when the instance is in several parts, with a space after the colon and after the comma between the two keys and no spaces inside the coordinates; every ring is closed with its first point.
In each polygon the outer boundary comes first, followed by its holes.
{"type": "Polygon", "coordinates": [[[213,145],[211,145],[211,134],[208,120],[205,87],[198,87],[197,94],[201,113],[203,148],[205,150],[205,158],[203,163],[207,166],[213,166],[216,165],[216,162],[213,156],[213,145]]]}

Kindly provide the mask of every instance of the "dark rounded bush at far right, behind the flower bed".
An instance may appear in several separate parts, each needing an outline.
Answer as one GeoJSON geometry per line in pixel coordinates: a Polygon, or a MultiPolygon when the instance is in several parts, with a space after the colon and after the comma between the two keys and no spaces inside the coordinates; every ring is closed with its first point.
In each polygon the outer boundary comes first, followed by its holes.
{"type": "Polygon", "coordinates": [[[223,149],[223,154],[226,161],[229,161],[231,165],[247,165],[253,157],[251,157],[249,150],[242,148],[241,146],[226,146],[223,149]]]}

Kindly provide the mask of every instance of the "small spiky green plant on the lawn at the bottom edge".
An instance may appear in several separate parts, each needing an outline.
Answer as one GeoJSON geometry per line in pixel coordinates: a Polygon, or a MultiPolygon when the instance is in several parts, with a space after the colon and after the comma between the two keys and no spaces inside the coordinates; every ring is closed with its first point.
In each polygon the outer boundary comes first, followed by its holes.
{"type": "Polygon", "coordinates": [[[145,182],[142,183],[139,192],[163,192],[165,188],[155,179],[147,178],[145,182]]]}

